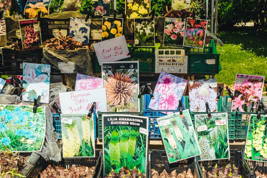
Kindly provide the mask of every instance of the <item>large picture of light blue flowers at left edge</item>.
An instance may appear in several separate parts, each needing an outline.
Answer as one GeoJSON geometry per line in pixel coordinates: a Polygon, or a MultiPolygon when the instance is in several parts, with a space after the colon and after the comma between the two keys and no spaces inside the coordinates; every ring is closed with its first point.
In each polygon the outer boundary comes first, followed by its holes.
{"type": "Polygon", "coordinates": [[[41,151],[46,130],[45,107],[0,105],[0,150],[41,151]]]}

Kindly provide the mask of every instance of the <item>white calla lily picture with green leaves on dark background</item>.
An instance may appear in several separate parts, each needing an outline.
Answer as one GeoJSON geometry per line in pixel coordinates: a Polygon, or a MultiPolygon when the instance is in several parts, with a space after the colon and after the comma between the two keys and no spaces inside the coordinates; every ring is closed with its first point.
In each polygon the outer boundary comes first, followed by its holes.
{"type": "Polygon", "coordinates": [[[135,46],[155,46],[155,23],[151,18],[134,18],[135,46]]]}

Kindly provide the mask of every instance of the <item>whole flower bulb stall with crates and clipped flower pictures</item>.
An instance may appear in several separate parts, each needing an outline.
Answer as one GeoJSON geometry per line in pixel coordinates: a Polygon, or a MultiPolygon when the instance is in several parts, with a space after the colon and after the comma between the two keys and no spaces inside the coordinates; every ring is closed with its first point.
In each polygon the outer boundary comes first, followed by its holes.
{"type": "Polygon", "coordinates": [[[196,0],[3,1],[1,178],[267,174],[265,77],[217,82],[196,0]]]}

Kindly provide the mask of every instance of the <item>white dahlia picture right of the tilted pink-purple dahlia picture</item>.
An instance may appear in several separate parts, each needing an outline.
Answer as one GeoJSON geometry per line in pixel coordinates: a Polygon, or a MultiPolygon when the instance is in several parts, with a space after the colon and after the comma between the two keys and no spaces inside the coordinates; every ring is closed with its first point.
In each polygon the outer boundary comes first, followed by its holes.
{"type": "Polygon", "coordinates": [[[208,102],[211,112],[217,112],[217,84],[211,87],[211,83],[217,83],[216,79],[188,82],[190,111],[206,112],[205,103],[208,102]]]}

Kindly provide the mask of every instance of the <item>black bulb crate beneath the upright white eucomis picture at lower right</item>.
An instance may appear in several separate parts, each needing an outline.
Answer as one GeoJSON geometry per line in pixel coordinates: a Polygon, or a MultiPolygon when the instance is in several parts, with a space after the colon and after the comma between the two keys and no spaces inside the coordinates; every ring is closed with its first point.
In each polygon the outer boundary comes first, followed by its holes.
{"type": "Polygon", "coordinates": [[[250,178],[250,172],[248,172],[248,167],[243,164],[242,151],[241,150],[230,150],[230,159],[223,160],[212,160],[212,161],[199,161],[198,170],[200,171],[200,178],[203,178],[201,169],[204,167],[208,172],[211,171],[214,166],[217,164],[218,168],[225,167],[228,165],[230,170],[232,169],[233,164],[241,172],[242,178],[250,178]]]}

